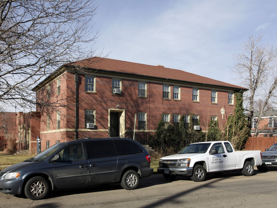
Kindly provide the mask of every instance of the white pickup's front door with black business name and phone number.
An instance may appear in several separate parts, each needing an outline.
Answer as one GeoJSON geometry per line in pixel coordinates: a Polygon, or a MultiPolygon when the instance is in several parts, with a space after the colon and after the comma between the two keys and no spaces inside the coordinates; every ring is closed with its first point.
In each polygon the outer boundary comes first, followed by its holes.
{"type": "Polygon", "coordinates": [[[227,170],[228,157],[221,142],[214,143],[211,150],[217,150],[217,154],[209,154],[209,172],[227,170]]]}

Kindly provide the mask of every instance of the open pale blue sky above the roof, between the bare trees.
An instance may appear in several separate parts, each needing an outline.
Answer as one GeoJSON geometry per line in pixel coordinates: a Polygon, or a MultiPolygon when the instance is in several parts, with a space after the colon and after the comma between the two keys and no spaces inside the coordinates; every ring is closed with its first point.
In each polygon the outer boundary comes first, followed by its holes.
{"type": "Polygon", "coordinates": [[[275,0],[96,0],[96,52],[232,84],[233,55],[250,35],[277,45],[275,0]]]}

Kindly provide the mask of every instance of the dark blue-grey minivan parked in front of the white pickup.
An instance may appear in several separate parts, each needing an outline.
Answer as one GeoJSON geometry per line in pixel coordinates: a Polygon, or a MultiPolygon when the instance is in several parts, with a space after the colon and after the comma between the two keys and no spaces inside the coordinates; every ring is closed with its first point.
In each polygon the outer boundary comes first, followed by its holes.
{"type": "Polygon", "coordinates": [[[153,173],[150,155],[128,138],[80,139],[51,146],[33,158],[0,172],[0,192],[23,194],[32,200],[64,187],[120,182],[138,187],[153,173]]]}

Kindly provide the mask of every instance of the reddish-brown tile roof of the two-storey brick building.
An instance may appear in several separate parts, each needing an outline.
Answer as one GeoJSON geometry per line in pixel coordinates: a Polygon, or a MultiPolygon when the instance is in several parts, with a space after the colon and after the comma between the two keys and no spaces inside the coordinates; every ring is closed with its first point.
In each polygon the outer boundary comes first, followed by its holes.
{"type": "Polygon", "coordinates": [[[223,86],[228,88],[239,88],[242,90],[247,90],[246,88],[218,81],[215,79],[210,79],[207,77],[202,77],[196,74],[188,73],[182,70],[165,68],[162,66],[151,66],[146,64],[137,64],[132,62],[92,57],[89,59],[77,61],[70,63],[68,65],[80,66],[85,68],[93,68],[106,70],[116,73],[128,73],[133,75],[141,75],[147,77],[156,77],[156,78],[167,78],[171,80],[179,80],[190,83],[199,83],[199,84],[208,84],[223,86]]]}

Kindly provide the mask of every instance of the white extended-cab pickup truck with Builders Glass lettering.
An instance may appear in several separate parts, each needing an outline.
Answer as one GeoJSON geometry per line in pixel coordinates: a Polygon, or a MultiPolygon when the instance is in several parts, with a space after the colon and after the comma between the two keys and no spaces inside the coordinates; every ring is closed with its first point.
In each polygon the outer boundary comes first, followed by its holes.
{"type": "Polygon", "coordinates": [[[230,142],[198,142],[189,144],[176,155],[162,157],[158,172],[173,180],[177,175],[189,175],[193,181],[203,181],[206,172],[237,170],[251,176],[254,166],[261,165],[261,151],[235,151],[230,142]]]}

